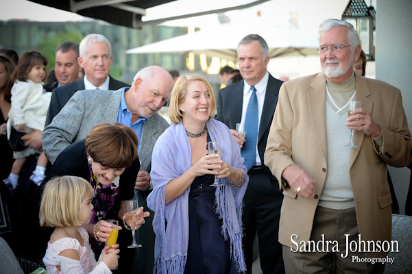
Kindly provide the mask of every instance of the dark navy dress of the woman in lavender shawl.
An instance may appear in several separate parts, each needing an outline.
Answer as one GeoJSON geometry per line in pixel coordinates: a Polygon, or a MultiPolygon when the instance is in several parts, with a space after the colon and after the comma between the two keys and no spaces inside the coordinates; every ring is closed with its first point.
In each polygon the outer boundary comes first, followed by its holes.
{"type": "Polygon", "coordinates": [[[185,274],[237,273],[230,260],[230,240],[221,234],[215,213],[213,175],[196,177],[189,193],[189,247],[185,274]]]}

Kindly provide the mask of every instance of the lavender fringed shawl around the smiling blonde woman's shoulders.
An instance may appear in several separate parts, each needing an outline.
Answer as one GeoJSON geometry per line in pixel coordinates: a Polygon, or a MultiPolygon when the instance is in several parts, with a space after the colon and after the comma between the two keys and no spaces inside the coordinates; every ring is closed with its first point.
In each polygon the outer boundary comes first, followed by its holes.
{"type": "MultiPolygon", "coordinates": [[[[207,122],[208,134],[221,145],[221,160],[241,169],[243,165],[240,148],[228,127],[215,120],[207,122]]],[[[147,206],[154,212],[153,229],[156,234],[154,273],[183,273],[189,246],[189,192],[190,186],[178,199],[165,206],[166,185],[191,168],[191,145],[182,123],[173,125],[158,138],[152,155],[152,182],[154,190],[147,197],[147,206]],[[167,223],[167,226],[166,226],[167,223]]],[[[242,250],[242,205],[243,195],[249,182],[246,175],[241,188],[232,188],[227,178],[219,179],[223,186],[215,192],[215,211],[222,220],[221,234],[230,240],[230,258],[237,271],[245,272],[242,250]]]]}

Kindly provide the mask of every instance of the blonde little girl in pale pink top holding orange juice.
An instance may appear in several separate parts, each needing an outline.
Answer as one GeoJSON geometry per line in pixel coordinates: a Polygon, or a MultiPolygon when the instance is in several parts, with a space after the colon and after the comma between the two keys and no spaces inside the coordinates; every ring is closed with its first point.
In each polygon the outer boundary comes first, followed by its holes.
{"type": "Polygon", "coordinates": [[[47,274],[112,273],[119,260],[119,245],[106,246],[96,262],[81,225],[92,216],[93,189],[76,176],[55,177],[47,182],[40,204],[40,225],[56,227],[47,244],[43,263],[47,274]]]}

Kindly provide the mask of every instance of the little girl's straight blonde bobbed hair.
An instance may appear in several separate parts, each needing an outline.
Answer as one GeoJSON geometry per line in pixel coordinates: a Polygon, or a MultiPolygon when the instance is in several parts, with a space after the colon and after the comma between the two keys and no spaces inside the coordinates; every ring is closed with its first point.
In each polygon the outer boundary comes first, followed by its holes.
{"type": "Polygon", "coordinates": [[[93,188],[77,176],[54,177],[47,182],[40,203],[40,226],[83,225],[79,220],[84,199],[93,197],[93,188]]]}

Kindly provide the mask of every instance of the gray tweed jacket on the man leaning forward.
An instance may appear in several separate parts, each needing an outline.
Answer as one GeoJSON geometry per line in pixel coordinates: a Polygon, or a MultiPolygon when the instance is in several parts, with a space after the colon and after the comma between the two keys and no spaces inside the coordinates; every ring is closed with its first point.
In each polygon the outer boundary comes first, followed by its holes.
{"type": "MultiPolygon", "coordinates": [[[[77,140],[86,138],[98,123],[116,123],[119,115],[121,93],[119,90],[80,90],[71,97],[64,108],[43,131],[43,149],[53,164],[59,153],[77,140]]],[[[150,173],[152,151],[158,137],[169,127],[159,114],[154,114],[143,125],[141,142],[141,171],[150,173]]]]}

